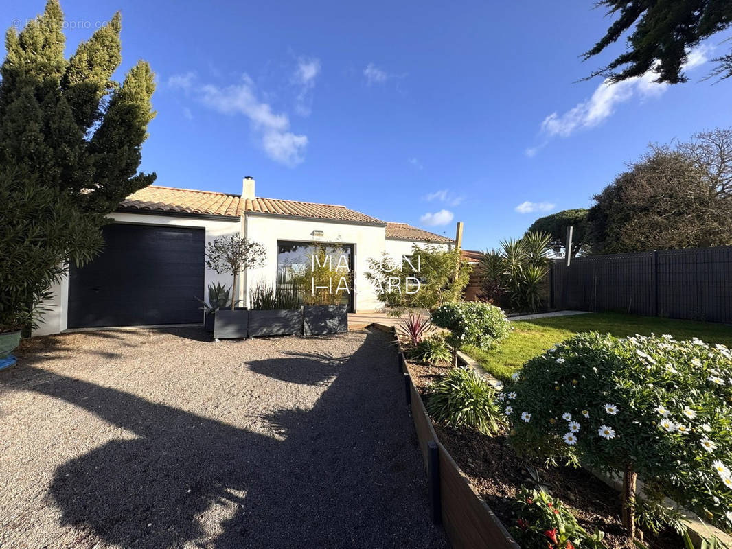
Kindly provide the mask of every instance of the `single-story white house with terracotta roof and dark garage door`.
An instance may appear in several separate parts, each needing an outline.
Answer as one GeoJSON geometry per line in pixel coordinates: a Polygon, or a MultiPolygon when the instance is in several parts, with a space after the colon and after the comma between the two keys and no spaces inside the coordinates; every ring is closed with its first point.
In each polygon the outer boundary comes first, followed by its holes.
{"type": "Polygon", "coordinates": [[[242,194],[213,193],[151,185],[128,196],[103,229],[105,250],[90,264],[72,266],[52,288],[48,313],[34,335],[99,326],[199,323],[208,286],[231,286],[228,275],[206,267],[206,243],[242,235],[263,244],[264,266],[239,280],[248,304],[258,283],[274,284],[284,269],[305,263],[313,242],[333,244],[344,253],[356,292],[350,310],[379,310],[365,279],[368,260],[388,253],[400,261],[413,244],[452,248],[455,241],[406,223],[385,223],[346,206],[260,198],[254,179],[244,178],[242,194]]]}

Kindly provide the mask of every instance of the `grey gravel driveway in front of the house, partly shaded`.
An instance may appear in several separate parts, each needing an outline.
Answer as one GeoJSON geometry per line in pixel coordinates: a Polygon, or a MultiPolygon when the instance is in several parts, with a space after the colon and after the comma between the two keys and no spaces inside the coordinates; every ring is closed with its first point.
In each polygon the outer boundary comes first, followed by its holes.
{"type": "Polygon", "coordinates": [[[386,335],[24,343],[0,372],[1,548],[442,548],[386,335]]]}

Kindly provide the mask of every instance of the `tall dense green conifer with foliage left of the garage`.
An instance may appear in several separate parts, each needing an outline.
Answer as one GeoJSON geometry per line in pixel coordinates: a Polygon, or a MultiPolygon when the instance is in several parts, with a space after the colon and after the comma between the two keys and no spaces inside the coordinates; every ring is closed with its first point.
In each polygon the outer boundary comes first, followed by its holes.
{"type": "Polygon", "coordinates": [[[154,112],[149,64],[122,84],[119,12],[64,57],[58,0],[18,33],[0,66],[0,332],[34,324],[51,283],[102,247],[105,217],[154,182],[138,173],[154,112]]]}

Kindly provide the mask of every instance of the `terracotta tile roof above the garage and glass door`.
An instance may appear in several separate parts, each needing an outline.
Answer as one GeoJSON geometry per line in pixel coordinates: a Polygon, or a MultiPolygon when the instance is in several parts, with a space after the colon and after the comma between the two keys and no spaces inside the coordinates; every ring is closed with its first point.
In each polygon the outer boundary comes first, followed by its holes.
{"type": "Polygon", "coordinates": [[[277,200],[276,198],[247,198],[239,195],[212,193],[207,190],[176,189],[150,185],[132,193],[119,205],[122,209],[211,214],[239,217],[242,212],[313,217],[356,223],[384,224],[370,215],[335,204],[277,200]]]}

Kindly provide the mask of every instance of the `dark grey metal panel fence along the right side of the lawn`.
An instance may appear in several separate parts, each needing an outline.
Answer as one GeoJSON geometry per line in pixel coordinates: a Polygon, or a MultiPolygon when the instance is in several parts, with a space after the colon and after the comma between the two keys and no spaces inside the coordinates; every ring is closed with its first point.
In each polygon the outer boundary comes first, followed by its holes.
{"type": "Polygon", "coordinates": [[[550,305],[732,322],[732,247],[556,259],[550,305]]]}

